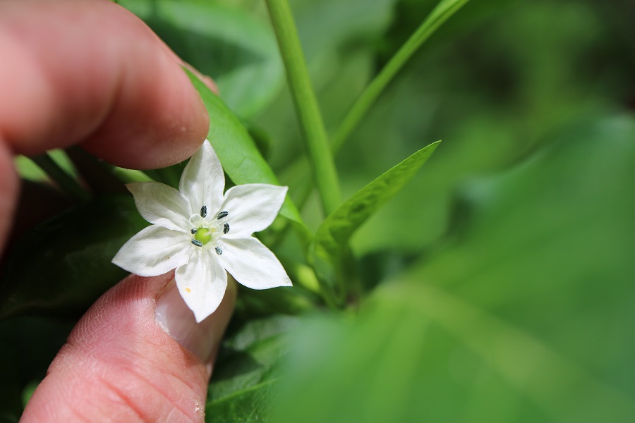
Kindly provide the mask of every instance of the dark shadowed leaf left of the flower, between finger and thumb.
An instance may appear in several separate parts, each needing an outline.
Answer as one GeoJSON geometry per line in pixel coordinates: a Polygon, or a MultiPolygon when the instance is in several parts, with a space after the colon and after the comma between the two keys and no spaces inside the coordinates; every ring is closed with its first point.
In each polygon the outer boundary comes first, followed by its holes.
{"type": "Polygon", "coordinates": [[[129,195],[100,196],[36,226],[13,245],[0,278],[0,319],[73,315],[127,272],[110,261],[147,226],[129,195]]]}

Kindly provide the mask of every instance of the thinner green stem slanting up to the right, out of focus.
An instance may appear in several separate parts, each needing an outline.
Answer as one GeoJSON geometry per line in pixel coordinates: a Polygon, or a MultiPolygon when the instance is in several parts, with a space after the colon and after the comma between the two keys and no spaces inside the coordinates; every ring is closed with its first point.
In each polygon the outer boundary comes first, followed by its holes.
{"type": "Polygon", "coordinates": [[[373,82],[370,82],[370,85],[366,87],[364,92],[362,92],[355,104],[351,107],[349,113],[346,114],[344,121],[342,121],[333,137],[332,145],[334,152],[337,152],[351,133],[356,130],[363,117],[368,113],[368,110],[370,110],[370,107],[375,104],[377,97],[380,96],[385,87],[392,81],[394,75],[397,75],[415,51],[421,47],[421,44],[430,38],[430,35],[433,35],[442,23],[454,15],[454,13],[468,1],[469,0],[442,0],[437,4],[437,7],[430,12],[430,15],[419,25],[408,41],[401,46],[401,49],[392,56],[392,59],[390,59],[379,75],[375,77],[373,82]]]}

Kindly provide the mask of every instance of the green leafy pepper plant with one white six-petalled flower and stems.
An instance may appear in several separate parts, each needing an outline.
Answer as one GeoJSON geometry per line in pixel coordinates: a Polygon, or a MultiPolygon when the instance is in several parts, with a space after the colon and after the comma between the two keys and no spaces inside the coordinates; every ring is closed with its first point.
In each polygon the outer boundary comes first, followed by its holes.
{"type": "MultiPolygon", "coordinates": [[[[200,154],[222,165],[200,180],[219,185],[197,197],[199,155],[146,172],[78,149],[18,159],[73,205],[7,252],[0,331],[59,348],[126,276],[113,257],[138,274],[176,268],[198,320],[226,270],[273,289],[239,290],[212,421],[632,421],[628,13],[548,0],[117,3],[198,70],[183,68],[210,115],[200,154]],[[155,188],[160,215],[143,202],[155,188]],[[169,266],[126,244],[153,231],[179,238],[169,266]],[[193,276],[208,267],[215,288],[193,276]]],[[[7,415],[44,364],[6,379],[7,415]]]]}

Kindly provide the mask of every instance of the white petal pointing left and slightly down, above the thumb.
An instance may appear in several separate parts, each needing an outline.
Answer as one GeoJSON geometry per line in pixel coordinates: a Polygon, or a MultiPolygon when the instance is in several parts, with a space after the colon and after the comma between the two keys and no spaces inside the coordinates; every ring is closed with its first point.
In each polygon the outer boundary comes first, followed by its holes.
{"type": "Polygon", "coordinates": [[[112,262],[139,276],[158,276],[190,259],[188,235],[161,226],[148,226],[123,244],[112,262]]]}

